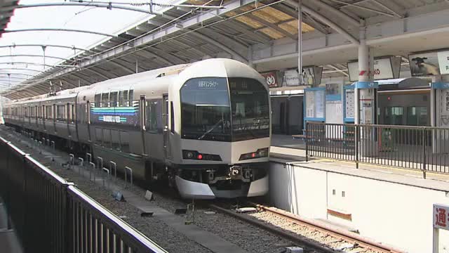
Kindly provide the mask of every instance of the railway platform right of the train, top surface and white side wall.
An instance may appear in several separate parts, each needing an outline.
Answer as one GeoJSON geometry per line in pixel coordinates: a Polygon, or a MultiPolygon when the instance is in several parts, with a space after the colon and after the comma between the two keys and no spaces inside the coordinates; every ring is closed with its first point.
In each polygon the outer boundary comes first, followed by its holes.
{"type": "MultiPolygon", "coordinates": [[[[424,179],[421,169],[369,163],[357,168],[332,155],[306,162],[307,150],[288,145],[270,149],[272,205],[340,224],[404,252],[431,252],[433,205],[449,202],[448,174],[427,171],[424,179]]],[[[441,252],[447,236],[440,235],[441,252]]]]}

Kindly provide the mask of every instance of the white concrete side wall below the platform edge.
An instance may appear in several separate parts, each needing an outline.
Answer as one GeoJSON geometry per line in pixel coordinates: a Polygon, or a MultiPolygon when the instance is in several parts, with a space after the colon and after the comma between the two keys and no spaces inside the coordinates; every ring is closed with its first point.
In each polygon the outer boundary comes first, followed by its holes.
{"type": "MultiPolygon", "coordinates": [[[[269,197],[274,206],[350,226],[363,236],[411,253],[432,252],[433,204],[448,205],[447,194],[288,164],[272,163],[270,168],[269,197]],[[328,214],[328,209],[351,214],[351,221],[328,214]]],[[[441,237],[440,253],[449,252],[448,233],[441,237]]]]}

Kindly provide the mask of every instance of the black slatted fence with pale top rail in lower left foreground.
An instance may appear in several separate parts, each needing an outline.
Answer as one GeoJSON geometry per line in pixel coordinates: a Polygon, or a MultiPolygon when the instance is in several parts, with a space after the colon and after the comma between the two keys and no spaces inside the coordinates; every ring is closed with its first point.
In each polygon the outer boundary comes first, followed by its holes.
{"type": "Polygon", "coordinates": [[[4,138],[0,195],[24,252],[166,252],[4,138]]]}

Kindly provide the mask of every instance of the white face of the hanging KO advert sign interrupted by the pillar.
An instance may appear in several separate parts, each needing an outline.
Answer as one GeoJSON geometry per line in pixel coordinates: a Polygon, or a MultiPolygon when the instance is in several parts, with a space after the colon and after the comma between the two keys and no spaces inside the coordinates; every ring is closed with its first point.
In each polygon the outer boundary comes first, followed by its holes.
{"type": "MultiPolygon", "coordinates": [[[[358,80],[358,62],[348,63],[348,70],[349,70],[349,79],[351,79],[351,82],[356,82],[358,80]]],[[[375,80],[395,78],[390,58],[382,58],[374,60],[373,72],[375,80]]]]}

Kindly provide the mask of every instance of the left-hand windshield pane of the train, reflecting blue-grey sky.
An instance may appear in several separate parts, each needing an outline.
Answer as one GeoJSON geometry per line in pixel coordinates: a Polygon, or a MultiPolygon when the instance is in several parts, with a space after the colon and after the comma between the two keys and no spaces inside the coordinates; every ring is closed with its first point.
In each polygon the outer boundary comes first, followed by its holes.
{"type": "Polygon", "coordinates": [[[182,138],[231,141],[226,78],[189,79],[180,96],[182,138]]]}

